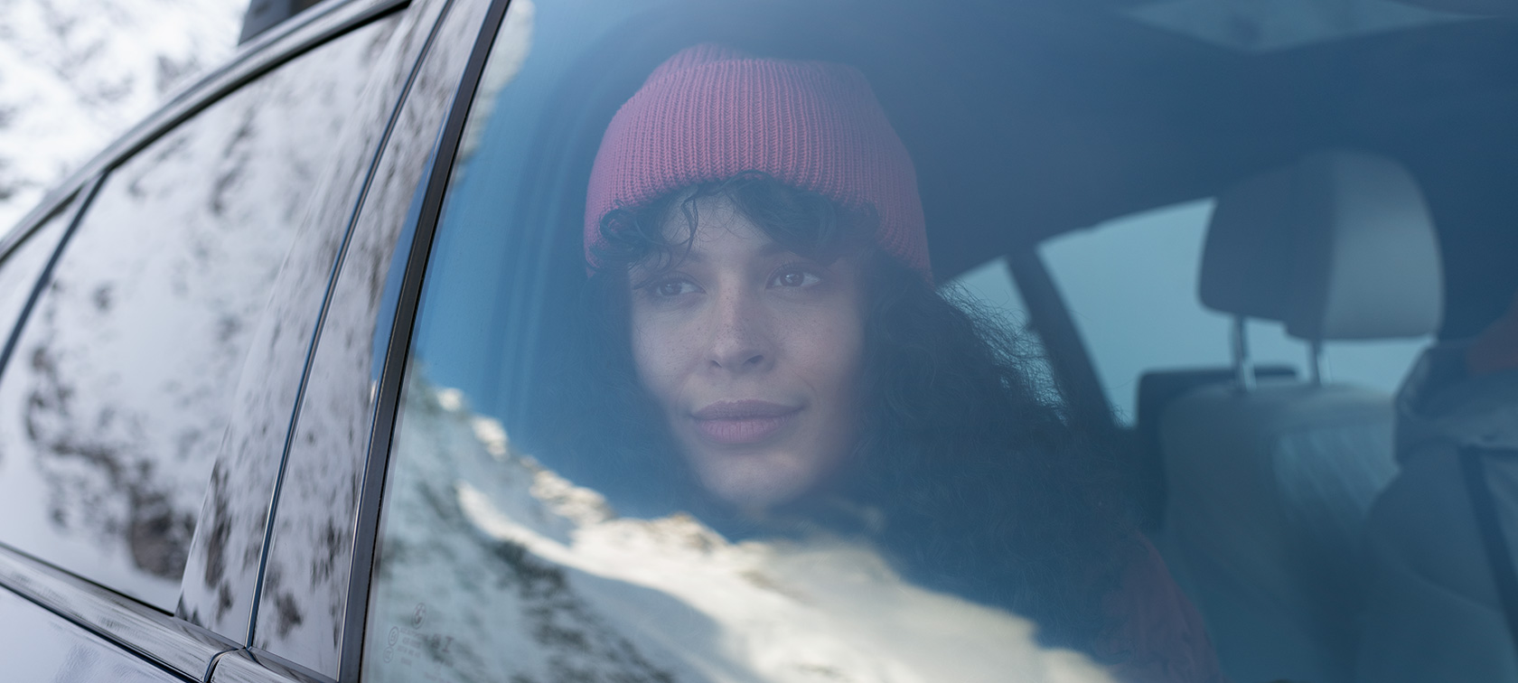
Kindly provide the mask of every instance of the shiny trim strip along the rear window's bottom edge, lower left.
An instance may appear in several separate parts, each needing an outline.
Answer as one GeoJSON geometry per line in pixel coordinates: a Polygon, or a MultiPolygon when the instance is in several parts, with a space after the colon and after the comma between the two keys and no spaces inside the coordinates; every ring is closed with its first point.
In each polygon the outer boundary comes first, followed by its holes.
{"type": "Polygon", "coordinates": [[[237,644],[0,545],[0,586],[193,680],[237,644]]]}

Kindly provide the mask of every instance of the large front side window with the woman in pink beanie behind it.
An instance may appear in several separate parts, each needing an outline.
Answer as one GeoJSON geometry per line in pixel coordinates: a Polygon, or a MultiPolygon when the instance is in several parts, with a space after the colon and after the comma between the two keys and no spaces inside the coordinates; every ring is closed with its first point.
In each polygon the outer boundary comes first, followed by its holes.
{"type": "Polygon", "coordinates": [[[1486,172],[1518,159],[1472,150],[1512,129],[1469,103],[1507,93],[1475,53],[1518,42],[1469,21],[1239,53],[1055,5],[512,0],[408,194],[408,261],[323,332],[342,389],[311,396],[342,402],[314,405],[376,413],[296,442],[372,439],[378,519],[361,648],[342,624],[320,672],[1348,681],[1362,636],[1413,653],[1398,634],[1435,627],[1398,590],[1438,552],[1377,522],[1390,389],[1441,308],[1469,314],[1447,255],[1510,212],[1486,172]],[[1274,316],[1255,386],[1219,287],[1274,316]],[[1366,568],[1378,524],[1395,557],[1366,568]],[[1362,631],[1372,583],[1403,612],[1362,631]]]}

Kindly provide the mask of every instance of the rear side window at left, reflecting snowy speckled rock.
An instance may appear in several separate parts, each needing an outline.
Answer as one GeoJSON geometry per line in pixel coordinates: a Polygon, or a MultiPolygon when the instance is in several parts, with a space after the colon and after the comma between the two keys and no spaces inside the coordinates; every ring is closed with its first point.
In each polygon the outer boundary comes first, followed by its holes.
{"type": "MultiPolygon", "coordinates": [[[[213,103],[105,179],[0,381],[0,542],[164,610],[249,334],[380,23],[213,103]]],[[[383,44],[383,42],[378,42],[383,44]]]]}

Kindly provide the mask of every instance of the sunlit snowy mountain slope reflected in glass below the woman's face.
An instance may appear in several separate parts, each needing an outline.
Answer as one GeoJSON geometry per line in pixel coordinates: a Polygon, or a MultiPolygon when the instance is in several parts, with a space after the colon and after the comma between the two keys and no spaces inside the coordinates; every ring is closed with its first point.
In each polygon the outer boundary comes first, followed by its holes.
{"type": "Polygon", "coordinates": [[[864,543],[619,518],[420,375],[387,492],[369,631],[396,644],[366,648],[375,680],[1108,680],[864,543]]]}

